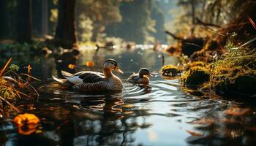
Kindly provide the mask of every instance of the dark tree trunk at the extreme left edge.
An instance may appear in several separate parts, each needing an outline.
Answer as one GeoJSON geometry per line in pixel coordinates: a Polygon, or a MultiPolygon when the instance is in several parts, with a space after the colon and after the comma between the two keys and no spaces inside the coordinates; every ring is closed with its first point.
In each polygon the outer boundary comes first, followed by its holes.
{"type": "Polygon", "coordinates": [[[7,39],[9,34],[7,3],[7,0],[0,1],[0,39],[7,39]]]}

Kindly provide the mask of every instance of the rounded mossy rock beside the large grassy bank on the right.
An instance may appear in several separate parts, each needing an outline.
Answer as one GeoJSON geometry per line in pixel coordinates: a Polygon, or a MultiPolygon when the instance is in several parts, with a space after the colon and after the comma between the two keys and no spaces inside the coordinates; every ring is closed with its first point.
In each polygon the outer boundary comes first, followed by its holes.
{"type": "Polygon", "coordinates": [[[200,87],[210,80],[210,73],[201,66],[194,66],[183,76],[184,85],[187,87],[200,87]]]}

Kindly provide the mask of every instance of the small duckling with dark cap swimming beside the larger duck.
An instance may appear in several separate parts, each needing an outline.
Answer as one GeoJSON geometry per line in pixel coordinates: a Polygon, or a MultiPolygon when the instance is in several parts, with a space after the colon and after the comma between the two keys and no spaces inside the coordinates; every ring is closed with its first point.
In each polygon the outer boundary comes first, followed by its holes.
{"type": "Polygon", "coordinates": [[[149,77],[152,77],[148,69],[141,68],[137,74],[133,73],[127,79],[128,82],[137,83],[137,84],[148,84],[149,77]]]}

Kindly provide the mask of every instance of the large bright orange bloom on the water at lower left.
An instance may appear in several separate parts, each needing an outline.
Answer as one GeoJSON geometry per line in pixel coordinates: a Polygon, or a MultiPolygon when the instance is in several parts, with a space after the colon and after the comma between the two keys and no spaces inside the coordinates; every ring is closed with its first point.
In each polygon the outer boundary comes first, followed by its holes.
{"type": "Polygon", "coordinates": [[[17,115],[13,122],[17,126],[18,134],[29,135],[36,131],[39,124],[39,118],[34,114],[20,114],[17,115]]]}

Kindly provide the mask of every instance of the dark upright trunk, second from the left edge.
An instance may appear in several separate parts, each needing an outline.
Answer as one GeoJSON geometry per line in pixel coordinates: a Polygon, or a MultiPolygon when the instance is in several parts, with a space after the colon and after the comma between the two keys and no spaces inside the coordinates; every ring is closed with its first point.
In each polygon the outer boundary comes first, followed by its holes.
{"type": "Polygon", "coordinates": [[[18,0],[17,41],[31,41],[31,0],[18,0]]]}

